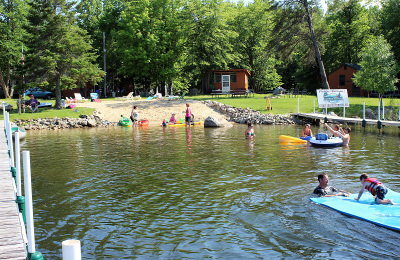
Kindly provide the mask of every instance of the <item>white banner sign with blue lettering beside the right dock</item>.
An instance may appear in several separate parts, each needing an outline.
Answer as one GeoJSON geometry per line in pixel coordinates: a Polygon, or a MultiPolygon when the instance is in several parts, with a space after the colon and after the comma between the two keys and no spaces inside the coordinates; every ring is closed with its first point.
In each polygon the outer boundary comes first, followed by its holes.
{"type": "Polygon", "coordinates": [[[348,107],[347,89],[317,89],[318,107],[348,107]]]}

